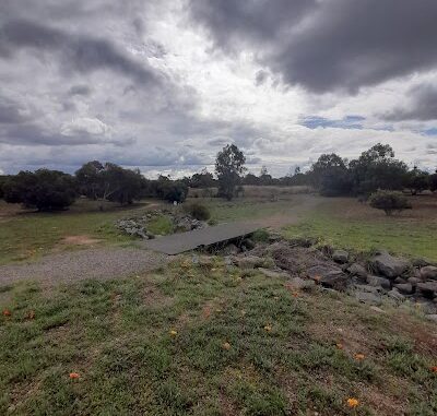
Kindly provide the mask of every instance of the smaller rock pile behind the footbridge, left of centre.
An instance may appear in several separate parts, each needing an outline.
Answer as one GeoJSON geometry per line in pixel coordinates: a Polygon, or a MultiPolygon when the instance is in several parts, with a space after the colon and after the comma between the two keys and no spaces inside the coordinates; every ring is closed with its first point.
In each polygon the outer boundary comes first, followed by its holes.
{"type": "Polygon", "coordinates": [[[192,218],[190,215],[165,210],[154,210],[143,216],[119,219],[116,222],[116,226],[130,236],[147,240],[155,238],[155,235],[149,229],[150,222],[163,215],[172,219],[175,233],[190,231],[208,226],[206,223],[192,218]]]}

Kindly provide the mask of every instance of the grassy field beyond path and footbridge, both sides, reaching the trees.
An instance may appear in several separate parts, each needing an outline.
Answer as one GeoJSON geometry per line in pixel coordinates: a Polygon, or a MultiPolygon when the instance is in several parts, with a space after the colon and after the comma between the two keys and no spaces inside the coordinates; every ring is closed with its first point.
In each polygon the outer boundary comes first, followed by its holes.
{"type": "MultiPolygon", "coordinates": [[[[253,194],[255,190],[250,190],[253,194]]],[[[413,210],[387,217],[382,212],[349,198],[320,198],[282,192],[271,198],[262,192],[232,202],[221,199],[192,198],[211,211],[212,222],[257,219],[265,226],[283,227],[286,237],[310,236],[334,247],[357,251],[385,248],[409,257],[437,261],[437,198],[412,198],[413,210]],[[308,204],[308,201],[312,203],[308,204]],[[293,219],[293,221],[292,221],[293,219]],[[286,226],[287,223],[295,224],[286,226]]],[[[141,215],[156,201],[128,207],[109,204],[104,212],[97,203],[79,200],[61,213],[22,212],[17,206],[0,202],[0,264],[37,259],[42,254],[93,245],[129,243],[115,221],[141,215]],[[75,237],[85,238],[84,245],[75,237]],[[73,238],[73,240],[70,240],[73,238]],[[86,241],[87,239],[87,241],[86,241]],[[79,243],[76,243],[79,242],[79,243]]],[[[172,224],[165,215],[151,224],[154,234],[168,234],[172,224]]]]}

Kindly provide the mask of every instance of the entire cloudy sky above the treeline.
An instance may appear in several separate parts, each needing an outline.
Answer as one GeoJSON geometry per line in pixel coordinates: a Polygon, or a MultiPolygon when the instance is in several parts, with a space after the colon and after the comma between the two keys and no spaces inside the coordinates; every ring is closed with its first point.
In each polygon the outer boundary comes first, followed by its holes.
{"type": "Polygon", "coordinates": [[[0,173],[437,167],[436,0],[0,0],[0,173]]]}

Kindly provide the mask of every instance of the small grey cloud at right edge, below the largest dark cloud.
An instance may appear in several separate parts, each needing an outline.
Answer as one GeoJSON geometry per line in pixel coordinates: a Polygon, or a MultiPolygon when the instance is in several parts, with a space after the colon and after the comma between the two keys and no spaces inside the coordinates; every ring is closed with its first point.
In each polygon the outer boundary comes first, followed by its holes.
{"type": "Polygon", "coordinates": [[[437,86],[423,84],[415,86],[406,94],[410,103],[404,107],[398,107],[394,110],[382,115],[389,121],[437,120],[437,86]]]}

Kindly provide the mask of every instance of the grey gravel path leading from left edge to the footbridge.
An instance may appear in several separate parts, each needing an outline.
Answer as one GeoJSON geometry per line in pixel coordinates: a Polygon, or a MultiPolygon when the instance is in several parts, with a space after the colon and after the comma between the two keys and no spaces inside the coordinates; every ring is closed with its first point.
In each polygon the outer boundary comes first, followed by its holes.
{"type": "Polygon", "coordinates": [[[132,248],[99,248],[49,254],[40,261],[0,266],[0,285],[20,280],[44,284],[84,278],[116,278],[151,271],[165,264],[168,257],[132,248]]]}

